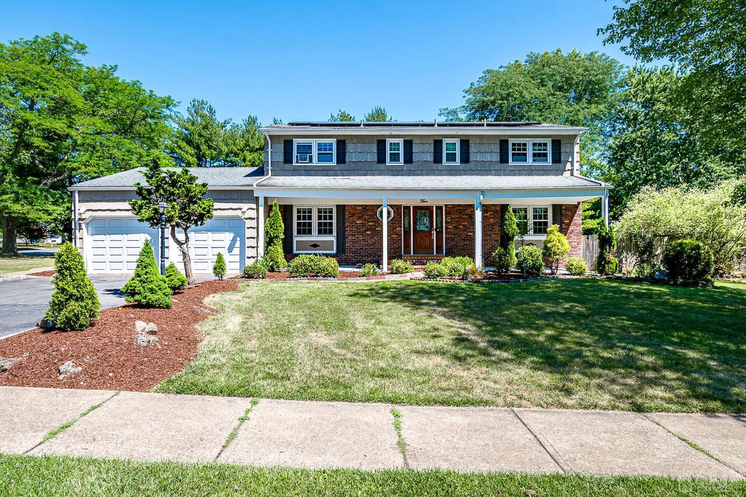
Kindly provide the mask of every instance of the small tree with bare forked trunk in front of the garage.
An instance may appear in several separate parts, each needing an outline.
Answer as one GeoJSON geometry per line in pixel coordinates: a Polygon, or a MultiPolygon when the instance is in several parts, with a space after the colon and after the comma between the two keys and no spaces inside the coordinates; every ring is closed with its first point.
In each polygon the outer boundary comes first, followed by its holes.
{"type": "Polygon", "coordinates": [[[213,199],[204,199],[207,183],[198,183],[197,177],[183,168],[181,171],[164,169],[160,166],[163,157],[157,156],[148,169],[142,171],[147,184],[135,183],[140,199],[130,201],[132,211],[140,221],[153,228],[160,226],[158,204],[166,202],[166,224],[171,230],[171,240],[181,251],[184,261],[184,274],[189,284],[194,284],[192,259],[189,257],[189,229],[204,225],[213,219],[213,199]],[[176,228],[184,233],[184,241],[176,236],[176,228]]]}

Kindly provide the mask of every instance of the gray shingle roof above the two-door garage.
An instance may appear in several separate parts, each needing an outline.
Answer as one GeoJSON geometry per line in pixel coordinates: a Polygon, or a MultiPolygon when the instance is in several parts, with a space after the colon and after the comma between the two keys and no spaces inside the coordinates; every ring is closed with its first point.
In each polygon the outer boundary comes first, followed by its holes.
{"type": "MultiPolygon", "coordinates": [[[[179,168],[170,168],[178,170],[179,168]]],[[[131,187],[137,181],[145,183],[145,178],[140,174],[144,167],[117,172],[116,174],[83,181],[73,185],[72,190],[85,190],[86,188],[121,188],[131,187]]],[[[261,167],[190,167],[189,172],[197,176],[197,181],[207,183],[210,187],[251,187],[264,175],[261,167]]]]}

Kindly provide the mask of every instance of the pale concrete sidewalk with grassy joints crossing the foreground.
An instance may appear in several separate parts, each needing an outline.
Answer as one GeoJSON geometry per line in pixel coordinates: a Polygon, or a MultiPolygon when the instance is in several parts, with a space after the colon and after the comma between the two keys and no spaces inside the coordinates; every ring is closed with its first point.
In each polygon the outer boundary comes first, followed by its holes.
{"type": "Polygon", "coordinates": [[[745,440],[746,417],[728,414],[0,387],[0,452],[6,454],[740,479],[745,440]]]}

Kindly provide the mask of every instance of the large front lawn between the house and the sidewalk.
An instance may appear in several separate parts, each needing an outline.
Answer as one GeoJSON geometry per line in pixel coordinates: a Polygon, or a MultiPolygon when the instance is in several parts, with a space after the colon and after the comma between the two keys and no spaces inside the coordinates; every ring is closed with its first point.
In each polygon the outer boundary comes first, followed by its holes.
{"type": "Polygon", "coordinates": [[[160,392],[746,410],[746,285],[599,279],[242,284],[160,392]]]}

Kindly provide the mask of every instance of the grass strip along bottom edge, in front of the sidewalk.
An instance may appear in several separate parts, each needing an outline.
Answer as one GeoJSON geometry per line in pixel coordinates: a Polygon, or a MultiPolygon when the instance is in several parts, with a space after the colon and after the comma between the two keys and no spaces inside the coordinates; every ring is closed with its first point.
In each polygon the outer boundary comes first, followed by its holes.
{"type": "Polygon", "coordinates": [[[0,455],[0,496],[743,496],[746,482],[0,455]]]}

